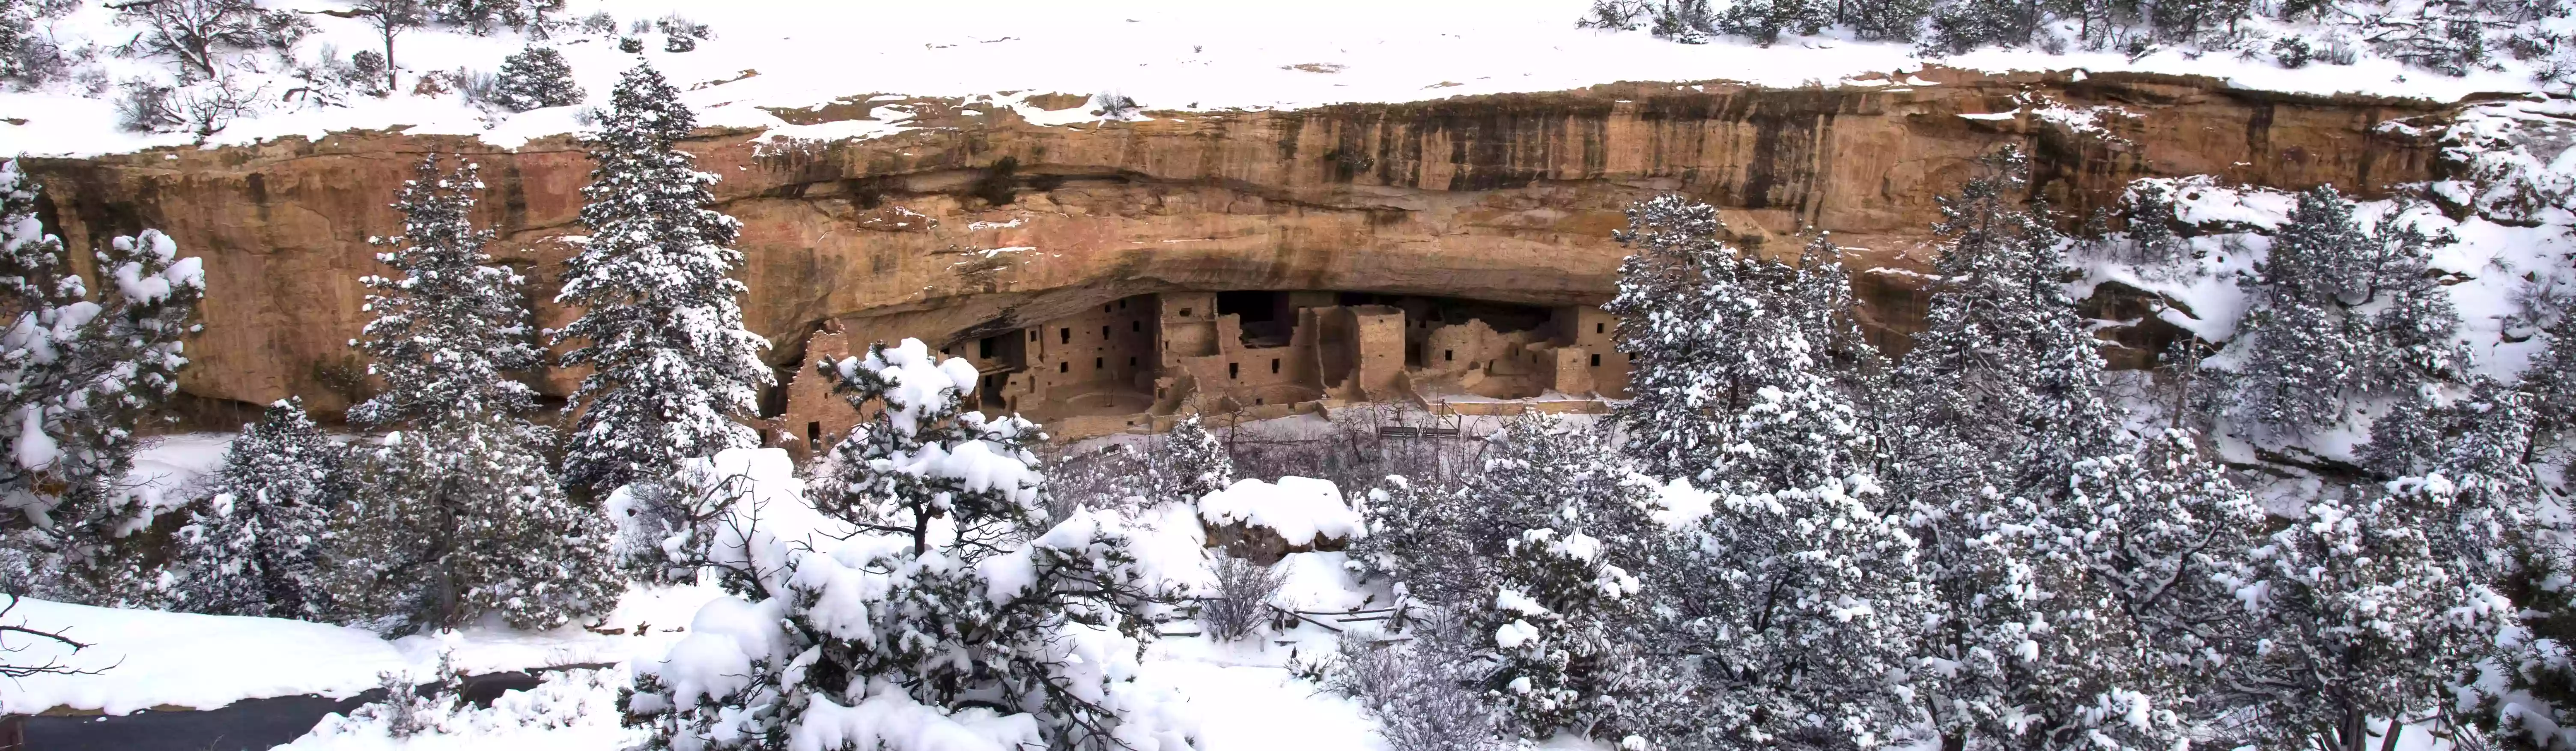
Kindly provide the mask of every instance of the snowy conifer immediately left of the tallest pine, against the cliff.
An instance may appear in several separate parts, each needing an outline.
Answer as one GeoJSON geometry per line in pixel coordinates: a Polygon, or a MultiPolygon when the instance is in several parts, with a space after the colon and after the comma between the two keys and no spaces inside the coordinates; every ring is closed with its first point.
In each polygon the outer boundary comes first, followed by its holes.
{"type": "Polygon", "coordinates": [[[453,627],[500,612],[515,627],[556,627],[616,606],[613,526],[564,498],[533,426],[533,369],[523,279],[484,253],[471,163],[425,157],[394,201],[404,214],[397,276],[361,279],[376,312],[358,341],[384,392],[350,418],[386,434],[355,452],[368,477],[335,521],[330,594],[343,619],[376,627],[453,627]]]}

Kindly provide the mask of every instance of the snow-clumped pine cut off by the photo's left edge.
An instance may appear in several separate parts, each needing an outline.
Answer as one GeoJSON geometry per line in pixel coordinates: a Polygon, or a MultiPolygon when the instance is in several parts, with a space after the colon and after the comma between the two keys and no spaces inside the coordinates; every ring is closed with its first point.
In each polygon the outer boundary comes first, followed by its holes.
{"type": "MultiPolygon", "coordinates": [[[[206,271],[160,230],[98,250],[100,286],[36,222],[36,186],[0,163],[0,547],[57,576],[54,599],[152,604],[157,583],[121,545],[162,508],[126,503],[137,426],[178,390],[206,271]]],[[[28,570],[31,573],[31,570],[28,570]]],[[[21,573],[10,573],[13,578],[21,573]]]]}

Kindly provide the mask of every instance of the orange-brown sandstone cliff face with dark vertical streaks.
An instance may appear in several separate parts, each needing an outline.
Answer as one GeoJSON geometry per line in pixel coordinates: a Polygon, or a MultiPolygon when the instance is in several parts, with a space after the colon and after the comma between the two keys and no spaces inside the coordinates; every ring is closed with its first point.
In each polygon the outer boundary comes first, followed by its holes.
{"type": "MultiPolygon", "coordinates": [[[[1682,191],[1762,248],[1829,230],[1857,266],[1922,263],[1935,196],[1999,145],[2081,214],[2143,175],[2383,194],[2424,181],[2434,147],[2380,121],[2445,106],[2300,98],[2161,75],[1935,75],[1937,85],[1795,88],[1620,83],[1569,93],[1311,111],[1157,114],[1030,126],[1010,108],[912,101],[917,129],[866,142],[701,132],[744,225],[744,302],[770,359],[840,320],[850,341],[956,341],[1167,289],[1345,289],[1522,305],[1597,305],[1623,250],[1620,206],[1682,191]],[[2066,124],[2012,114],[2112,106],[2066,124]]],[[[1909,80],[1914,83],[1914,80],[1909,80]]],[[[889,98],[876,101],[891,103],[889,98]]],[[[793,119],[863,116],[835,106],[793,119]]],[[[541,320],[567,255],[587,160],[572,139],[492,150],[392,132],[98,160],[28,160],[44,219],[77,248],[160,227],[206,258],[206,333],[183,390],[216,403],[304,395],[337,410],[363,385],[348,338],[366,320],[371,235],[428,152],[484,165],[495,255],[528,271],[541,320]]],[[[1906,276],[1862,274],[1883,333],[1917,315],[1906,276]]],[[[544,374],[567,392],[569,374],[544,374]]]]}

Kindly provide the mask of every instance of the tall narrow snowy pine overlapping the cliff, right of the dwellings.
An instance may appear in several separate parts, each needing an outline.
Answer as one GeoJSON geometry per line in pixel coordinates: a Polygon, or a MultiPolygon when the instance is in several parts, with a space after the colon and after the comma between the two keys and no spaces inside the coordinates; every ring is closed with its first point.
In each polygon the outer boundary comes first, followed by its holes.
{"type": "MultiPolygon", "coordinates": [[[[2071,493],[2079,465],[2133,446],[2102,397],[2099,343],[2061,286],[2066,240],[2045,204],[2017,204],[2022,170],[2020,152],[1999,152],[1986,175],[1942,199],[1940,281],[1899,364],[1896,431],[1883,439],[1940,604],[1922,650],[1945,743],[2035,730],[2105,738],[2089,733],[2105,725],[2081,717],[2105,712],[2105,697],[2151,689],[2102,684],[2117,674],[2094,648],[2146,635],[2105,619],[2128,604],[2089,578],[2099,550],[2056,547],[2081,534],[2056,526],[2084,514],[2071,508],[2087,503],[2071,493]]],[[[2169,723],[2136,730],[2177,733],[2169,723]]]]}

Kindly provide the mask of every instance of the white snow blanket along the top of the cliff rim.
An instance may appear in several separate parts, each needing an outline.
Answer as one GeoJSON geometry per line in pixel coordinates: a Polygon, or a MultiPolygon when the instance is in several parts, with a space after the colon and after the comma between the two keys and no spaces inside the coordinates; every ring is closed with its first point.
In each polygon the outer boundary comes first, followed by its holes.
{"type": "MultiPolygon", "coordinates": [[[[340,8],[335,0],[270,0],[296,10],[340,8]]],[[[1306,108],[1368,101],[1430,101],[1481,93],[1569,90],[1618,80],[1736,80],[1752,85],[1844,83],[1860,75],[1922,70],[1911,44],[1844,39],[1785,39],[1775,46],[1744,41],[1672,44],[1638,31],[1574,28],[1584,0],[1525,3],[1363,3],[1319,0],[1298,5],[1249,3],[811,3],[737,0],[721,13],[703,3],[572,3],[564,18],[611,10],[621,21],[683,13],[711,23],[716,39],[696,52],[641,54],[672,83],[690,88],[701,124],[770,129],[773,134],[845,139],[902,132],[899,121],[871,119],[791,126],[768,108],[832,103],[848,95],[997,95],[1041,124],[1097,121],[1079,106],[1041,111],[1020,106],[1030,93],[1092,95],[1118,90],[1146,111],[1306,108]],[[971,10],[969,10],[971,8],[971,10]],[[1358,23],[1355,18],[1365,18],[1358,23]],[[863,34],[860,34],[863,31],[863,34]],[[757,72],[757,75],[744,75],[757,72]]],[[[319,34],[299,44],[374,49],[363,21],[307,15],[319,34]]],[[[59,34],[121,41],[129,28],[111,13],[88,8],[57,23],[59,34]]],[[[559,49],[590,103],[608,98],[618,72],[636,54],[613,39],[559,34],[559,49]]],[[[513,34],[466,36],[443,28],[415,31],[397,44],[410,80],[425,70],[497,70],[520,46],[513,34]]],[[[155,72],[157,62],[108,59],[113,75],[155,72]]],[[[2388,59],[2282,70],[2269,62],[2156,52],[2138,62],[2107,52],[2043,54],[1981,49],[1932,65],[1965,70],[2146,70],[2210,75],[2241,88],[2290,93],[2411,95],[2455,101],[2481,90],[2532,90],[2509,72],[2442,77],[2388,59]]],[[[474,134],[495,147],[580,132],[577,108],[484,114],[461,95],[353,98],[345,108],[278,111],[234,121],[209,145],[245,145],[276,137],[322,139],[345,129],[404,126],[412,134],[474,134]]],[[[126,134],[116,129],[113,93],[80,95],[70,83],[36,93],[0,93],[0,152],[108,155],[188,145],[188,134],[126,134]]]]}

